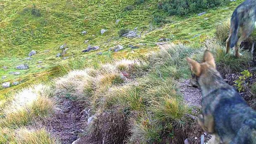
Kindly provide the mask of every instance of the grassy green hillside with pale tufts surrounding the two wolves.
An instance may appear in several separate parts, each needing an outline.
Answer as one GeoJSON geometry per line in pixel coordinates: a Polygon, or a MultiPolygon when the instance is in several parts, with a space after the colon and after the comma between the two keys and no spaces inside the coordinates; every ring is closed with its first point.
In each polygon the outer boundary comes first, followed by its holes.
{"type": "Polygon", "coordinates": [[[253,53],[242,50],[237,59],[224,48],[227,21],[242,0],[206,0],[198,9],[200,0],[187,9],[172,2],[1,1],[0,83],[11,85],[0,88],[0,143],[199,144],[201,95],[186,84],[185,57],[201,61],[205,48],[255,109],[253,53]],[[126,38],[130,31],[135,38],[126,38]]]}

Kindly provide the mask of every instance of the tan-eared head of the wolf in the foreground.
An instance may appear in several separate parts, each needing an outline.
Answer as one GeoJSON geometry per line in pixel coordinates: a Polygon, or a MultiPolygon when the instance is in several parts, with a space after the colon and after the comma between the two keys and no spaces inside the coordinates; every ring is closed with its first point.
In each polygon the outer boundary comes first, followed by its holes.
{"type": "Polygon", "coordinates": [[[193,87],[201,87],[201,85],[211,84],[216,78],[221,78],[220,73],[216,70],[213,55],[209,50],[205,50],[203,62],[201,64],[189,57],[187,57],[187,62],[192,71],[190,84],[193,87]]]}

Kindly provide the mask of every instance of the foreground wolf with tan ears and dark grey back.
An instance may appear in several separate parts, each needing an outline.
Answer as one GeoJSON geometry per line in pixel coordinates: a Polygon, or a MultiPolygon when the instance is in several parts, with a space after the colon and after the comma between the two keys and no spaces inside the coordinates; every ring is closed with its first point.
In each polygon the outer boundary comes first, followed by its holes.
{"type": "Polygon", "coordinates": [[[201,64],[189,57],[187,62],[192,84],[201,89],[202,114],[198,123],[212,135],[208,144],[256,144],[256,111],[234,87],[225,83],[211,52],[205,50],[201,64]]]}

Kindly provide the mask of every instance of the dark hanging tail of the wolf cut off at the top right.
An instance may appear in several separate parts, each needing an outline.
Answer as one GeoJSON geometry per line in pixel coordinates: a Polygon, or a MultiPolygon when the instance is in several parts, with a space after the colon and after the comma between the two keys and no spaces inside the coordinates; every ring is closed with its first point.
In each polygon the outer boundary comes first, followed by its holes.
{"type": "Polygon", "coordinates": [[[232,14],[231,24],[230,24],[230,29],[231,29],[230,32],[232,33],[231,38],[230,38],[230,48],[235,47],[235,44],[238,41],[239,23],[240,23],[240,19],[237,14],[237,11],[235,11],[232,14]]]}

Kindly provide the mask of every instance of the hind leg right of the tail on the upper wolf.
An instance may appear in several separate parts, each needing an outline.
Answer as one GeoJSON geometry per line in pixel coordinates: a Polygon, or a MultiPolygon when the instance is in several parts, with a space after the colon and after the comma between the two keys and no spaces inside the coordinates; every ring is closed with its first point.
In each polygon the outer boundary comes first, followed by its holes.
{"type": "Polygon", "coordinates": [[[237,41],[237,43],[235,45],[235,57],[241,57],[242,56],[242,54],[239,53],[239,47],[240,47],[241,43],[244,40],[249,38],[249,35],[254,30],[254,23],[248,23],[247,26],[241,26],[241,30],[242,30],[242,35],[238,39],[238,41],[237,41]]]}

